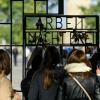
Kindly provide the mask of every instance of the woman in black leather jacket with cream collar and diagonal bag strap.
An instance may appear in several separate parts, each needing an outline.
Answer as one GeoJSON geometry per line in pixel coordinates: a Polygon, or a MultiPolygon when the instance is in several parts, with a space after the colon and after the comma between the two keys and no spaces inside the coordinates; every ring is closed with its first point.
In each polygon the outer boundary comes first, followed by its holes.
{"type": "Polygon", "coordinates": [[[100,69],[97,68],[97,75],[92,73],[91,63],[82,50],[73,50],[68,57],[66,76],[63,80],[63,100],[100,100],[100,69]],[[76,80],[84,87],[89,94],[77,84],[76,80]]]}

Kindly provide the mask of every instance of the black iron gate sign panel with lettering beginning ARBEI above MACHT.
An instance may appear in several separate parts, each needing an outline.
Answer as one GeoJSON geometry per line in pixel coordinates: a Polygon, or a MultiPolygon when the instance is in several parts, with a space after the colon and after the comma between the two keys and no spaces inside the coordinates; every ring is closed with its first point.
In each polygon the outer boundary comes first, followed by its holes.
{"type": "Polygon", "coordinates": [[[87,18],[94,18],[97,23],[98,16],[74,16],[74,15],[30,15],[26,14],[25,19],[33,18],[36,21],[34,28],[25,28],[26,32],[26,45],[41,45],[41,44],[53,44],[53,45],[97,45],[97,35],[99,36],[98,29],[86,28],[83,23],[87,18]],[[73,20],[73,21],[70,21],[73,20]],[[73,23],[75,23],[73,25],[73,23]],[[28,37],[28,38],[27,38],[28,37]],[[69,37],[69,40],[64,38],[69,37]],[[51,41],[50,41],[51,40],[51,41]],[[96,41],[94,41],[96,40],[96,41]],[[67,44],[66,42],[67,41],[67,44]]]}

